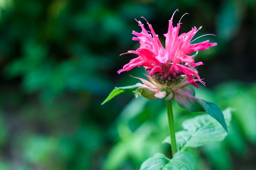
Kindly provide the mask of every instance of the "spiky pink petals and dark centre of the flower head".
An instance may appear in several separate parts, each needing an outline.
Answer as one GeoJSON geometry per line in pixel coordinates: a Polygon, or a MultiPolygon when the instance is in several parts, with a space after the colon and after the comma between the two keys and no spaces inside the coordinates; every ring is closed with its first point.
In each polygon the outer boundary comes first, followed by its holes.
{"type": "MultiPolygon", "coordinates": [[[[188,13],[184,15],[186,14],[188,13]]],[[[166,37],[164,49],[151,24],[147,22],[150,29],[150,31],[147,31],[144,24],[140,21],[137,22],[142,31],[140,33],[133,31],[132,34],[136,37],[133,37],[132,40],[139,41],[140,47],[136,51],[130,50],[128,53],[136,54],[138,57],[130,60],[118,73],[130,71],[136,66],[144,66],[151,77],[151,82],[154,81],[154,84],[157,82],[157,84],[162,84],[162,87],[177,87],[177,84],[179,84],[179,87],[172,88],[174,91],[188,84],[192,84],[198,88],[195,81],[204,84],[195,69],[196,66],[202,65],[203,63],[195,63],[193,59],[195,55],[189,54],[195,51],[204,51],[205,49],[209,49],[210,46],[216,46],[217,43],[210,43],[209,40],[207,40],[197,44],[191,44],[191,42],[193,42],[191,39],[202,27],[199,29],[194,27],[188,33],[179,35],[181,23],[179,22],[177,26],[173,27],[172,16],[171,20],[169,20],[168,32],[164,34],[166,37]]]]}

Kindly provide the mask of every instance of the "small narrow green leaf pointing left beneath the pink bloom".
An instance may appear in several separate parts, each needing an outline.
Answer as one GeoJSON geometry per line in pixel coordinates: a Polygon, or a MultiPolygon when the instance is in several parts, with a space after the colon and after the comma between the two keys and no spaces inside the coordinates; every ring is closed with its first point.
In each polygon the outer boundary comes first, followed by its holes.
{"type": "Polygon", "coordinates": [[[136,91],[139,87],[141,87],[141,83],[137,83],[133,86],[124,86],[124,87],[116,87],[109,95],[108,97],[101,103],[101,105],[107,103],[108,101],[110,101],[113,97],[115,97],[116,95],[119,95],[120,93],[123,92],[130,92],[130,93],[135,93],[134,91],[136,91]]]}

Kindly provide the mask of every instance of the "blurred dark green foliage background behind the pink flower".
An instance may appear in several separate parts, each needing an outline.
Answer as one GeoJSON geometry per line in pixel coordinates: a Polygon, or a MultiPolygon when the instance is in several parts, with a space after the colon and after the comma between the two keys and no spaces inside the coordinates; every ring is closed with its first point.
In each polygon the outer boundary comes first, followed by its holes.
{"type": "MultiPolygon", "coordinates": [[[[180,33],[203,26],[195,37],[216,38],[198,42],[218,42],[196,58],[207,84],[196,96],[234,108],[225,141],[189,150],[196,170],[255,170],[255,0],[0,0],[0,170],[138,170],[157,152],[170,156],[163,100],[101,102],[142,76],[117,74],[135,57],[119,54],[139,46],[134,19],[164,42],[177,8],[174,24],[189,13],[180,33]]],[[[176,130],[199,114],[173,109],[176,130]]]]}

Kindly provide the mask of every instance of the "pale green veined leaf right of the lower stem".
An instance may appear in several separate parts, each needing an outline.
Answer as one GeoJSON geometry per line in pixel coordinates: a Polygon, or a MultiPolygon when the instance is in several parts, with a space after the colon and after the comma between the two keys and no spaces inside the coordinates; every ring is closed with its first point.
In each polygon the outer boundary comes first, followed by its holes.
{"type": "MultiPolygon", "coordinates": [[[[223,111],[226,123],[231,121],[231,109],[223,111]]],[[[222,141],[227,136],[227,132],[222,126],[209,115],[200,115],[192,119],[187,119],[182,123],[185,130],[176,132],[177,148],[185,150],[186,147],[199,147],[209,142],[222,141]]],[[[166,137],[164,143],[171,144],[170,136],[166,137]]]]}

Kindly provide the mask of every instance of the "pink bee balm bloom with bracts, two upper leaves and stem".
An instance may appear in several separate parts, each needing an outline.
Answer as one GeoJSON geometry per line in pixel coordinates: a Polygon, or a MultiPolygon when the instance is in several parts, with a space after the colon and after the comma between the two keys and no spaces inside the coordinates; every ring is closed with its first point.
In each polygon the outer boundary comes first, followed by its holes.
{"type": "MultiPolygon", "coordinates": [[[[184,15],[186,14],[187,13],[184,15]]],[[[148,80],[135,77],[140,79],[143,84],[137,83],[133,86],[116,87],[102,104],[108,102],[110,99],[124,91],[132,92],[135,96],[142,95],[148,99],[165,99],[173,152],[176,152],[177,149],[175,148],[175,130],[173,128],[171,99],[175,100],[180,107],[186,108],[191,112],[205,111],[211,117],[216,119],[226,132],[228,132],[221,109],[212,102],[196,98],[194,89],[186,87],[187,85],[192,84],[198,88],[198,85],[195,83],[196,81],[204,84],[195,69],[196,66],[202,65],[203,63],[195,63],[194,57],[198,51],[209,49],[210,46],[216,46],[217,43],[210,43],[209,40],[207,40],[192,44],[194,41],[191,41],[192,38],[201,27],[199,29],[194,27],[188,33],[179,35],[181,23],[179,21],[177,26],[173,27],[172,16],[171,20],[169,20],[168,32],[164,34],[166,37],[164,48],[159,41],[158,35],[155,34],[155,31],[148,22],[147,24],[150,31],[147,31],[144,24],[140,21],[137,22],[142,31],[140,33],[133,31],[132,34],[136,37],[133,37],[132,40],[139,41],[140,47],[136,51],[128,51],[128,53],[136,54],[138,57],[130,60],[130,62],[126,64],[123,69],[119,70],[118,73],[130,71],[136,66],[143,66],[148,72],[148,74],[145,75],[148,80]],[[194,52],[196,52],[195,55],[191,55],[191,53],[194,52]]]]}

